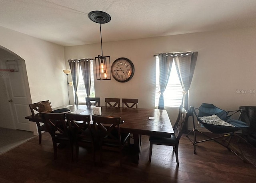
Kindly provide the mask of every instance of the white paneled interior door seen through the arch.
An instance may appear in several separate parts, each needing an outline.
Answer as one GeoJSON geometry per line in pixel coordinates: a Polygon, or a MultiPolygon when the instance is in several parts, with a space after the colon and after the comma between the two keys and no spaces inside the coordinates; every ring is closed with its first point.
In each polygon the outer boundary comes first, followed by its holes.
{"type": "Polygon", "coordinates": [[[14,69],[15,72],[10,72],[6,87],[8,90],[10,106],[12,109],[12,118],[14,125],[18,130],[26,130],[34,132],[36,125],[25,119],[25,116],[30,115],[28,106],[28,96],[30,95],[28,88],[28,79],[26,75],[26,67],[24,60],[6,61],[6,68],[14,69]]]}

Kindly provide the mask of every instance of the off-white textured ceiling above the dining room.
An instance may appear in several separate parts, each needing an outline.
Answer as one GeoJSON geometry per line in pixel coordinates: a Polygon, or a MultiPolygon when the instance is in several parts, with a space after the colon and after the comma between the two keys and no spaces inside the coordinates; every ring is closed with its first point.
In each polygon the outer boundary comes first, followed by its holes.
{"type": "Polygon", "coordinates": [[[256,26],[256,0],[0,0],[0,26],[63,46],[256,26]]]}

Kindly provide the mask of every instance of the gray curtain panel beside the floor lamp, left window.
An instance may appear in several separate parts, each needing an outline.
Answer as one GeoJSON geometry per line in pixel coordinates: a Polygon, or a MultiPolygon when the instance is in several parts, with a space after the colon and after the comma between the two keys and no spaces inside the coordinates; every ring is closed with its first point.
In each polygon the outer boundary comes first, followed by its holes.
{"type": "Polygon", "coordinates": [[[75,91],[75,104],[79,104],[77,96],[78,79],[79,79],[79,60],[68,60],[69,67],[71,70],[71,77],[73,81],[73,87],[75,91]]]}

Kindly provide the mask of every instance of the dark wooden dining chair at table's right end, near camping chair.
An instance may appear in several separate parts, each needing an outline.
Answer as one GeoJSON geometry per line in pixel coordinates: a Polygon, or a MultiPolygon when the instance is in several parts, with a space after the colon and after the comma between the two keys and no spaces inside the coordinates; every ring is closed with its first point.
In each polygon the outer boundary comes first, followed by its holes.
{"type": "Polygon", "coordinates": [[[149,141],[150,141],[149,161],[151,161],[153,144],[172,146],[173,150],[175,151],[176,163],[177,165],[179,165],[179,159],[178,159],[179,141],[180,141],[180,137],[182,136],[185,130],[185,126],[188,123],[188,116],[189,116],[188,111],[183,106],[180,106],[178,118],[173,126],[174,135],[170,136],[170,138],[154,137],[154,136],[149,137],[149,141]]]}

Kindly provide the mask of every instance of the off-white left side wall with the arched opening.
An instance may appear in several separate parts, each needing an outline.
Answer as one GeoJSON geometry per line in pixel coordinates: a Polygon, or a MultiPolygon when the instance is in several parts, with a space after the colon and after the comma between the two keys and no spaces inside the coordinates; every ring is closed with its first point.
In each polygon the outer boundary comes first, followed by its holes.
{"type": "Polygon", "coordinates": [[[68,104],[64,48],[0,27],[0,45],[25,60],[32,102],[50,100],[53,107],[68,104]]]}

